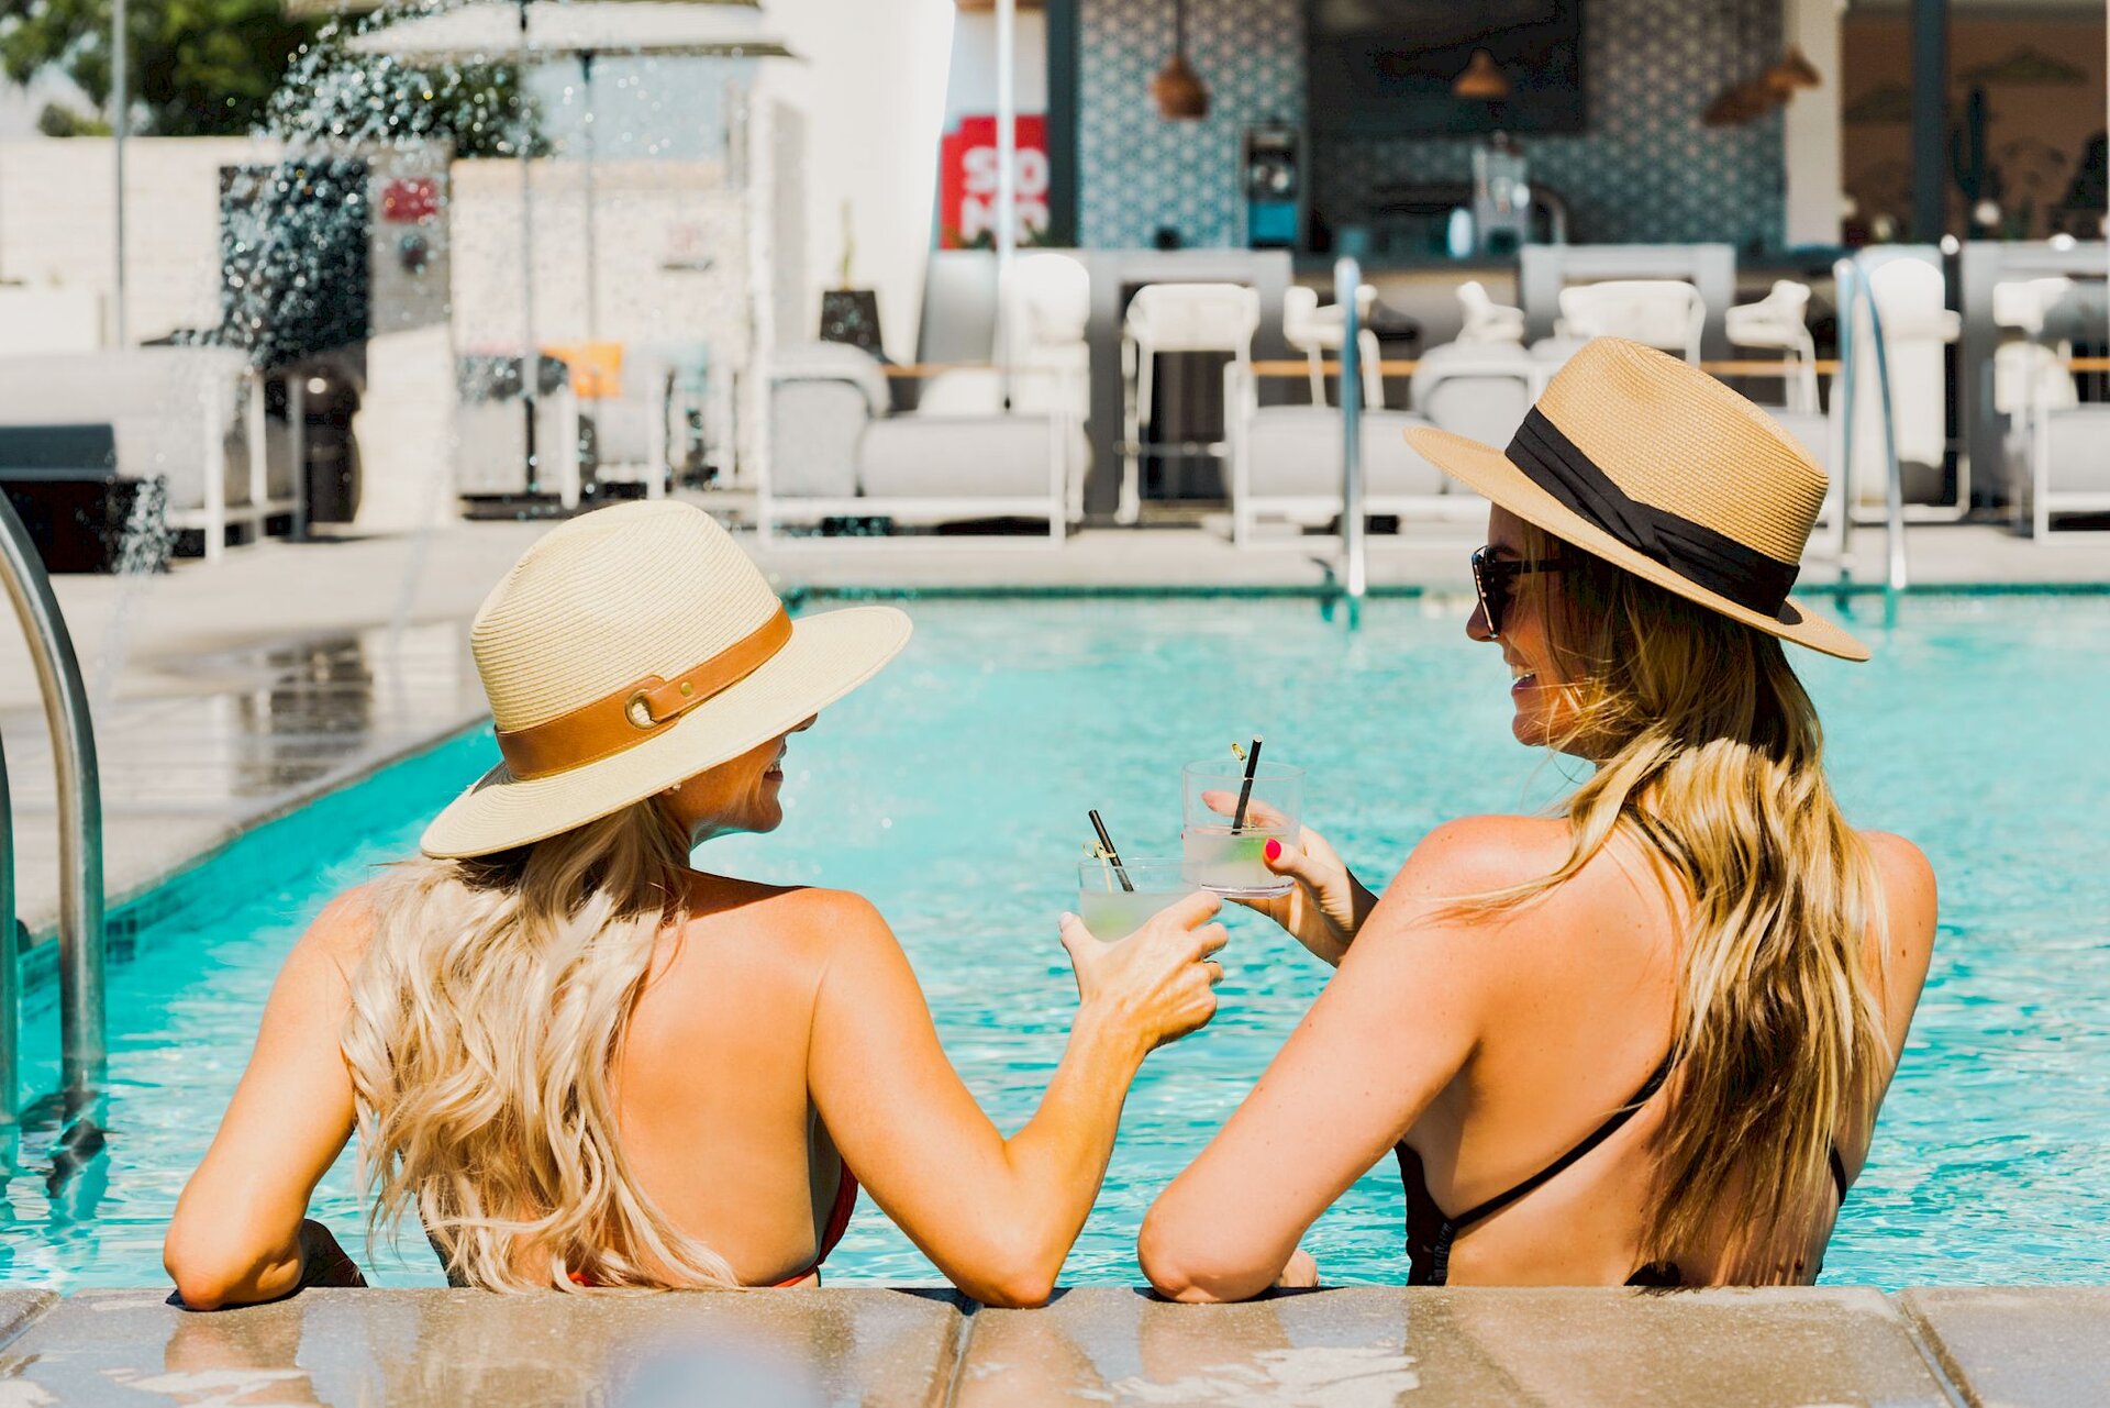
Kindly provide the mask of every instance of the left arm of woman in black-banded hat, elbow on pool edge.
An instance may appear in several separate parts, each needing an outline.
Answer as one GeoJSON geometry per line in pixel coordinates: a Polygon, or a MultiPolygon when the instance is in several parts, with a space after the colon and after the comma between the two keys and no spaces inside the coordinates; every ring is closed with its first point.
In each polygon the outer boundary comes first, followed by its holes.
{"type": "Polygon", "coordinates": [[[1509,817],[1433,832],[1340,973],[1224,1129],[1144,1218],[1144,1275],[1175,1300],[1268,1290],[1334,1199],[1405,1138],[1464,1068],[1498,982],[1496,925],[1443,901],[1517,878],[1509,817]]]}

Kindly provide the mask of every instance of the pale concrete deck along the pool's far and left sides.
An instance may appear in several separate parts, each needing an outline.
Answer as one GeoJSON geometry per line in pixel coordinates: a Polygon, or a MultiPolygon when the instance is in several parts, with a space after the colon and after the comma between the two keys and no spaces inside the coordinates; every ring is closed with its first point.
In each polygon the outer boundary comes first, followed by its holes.
{"type": "MultiPolygon", "coordinates": [[[[447,524],[428,534],[279,543],[181,562],[165,576],[57,581],[97,713],[118,906],[257,823],[418,751],[483,716],[466,631],[477,604],[546,524],[447,524]]],[[[1374,591],[1471,591],[1471,524],[1369,540],[1374,591]]],[[[1232,547],[1220,524],[1034,538],[745,538],[785,593],[1264,591],[1319,593],[1329,538],[1232,547]]],[[[1882,534],[1857,534],[1850,576],[1880,581],[1882,534]]],[[[1996,526],[1910,532],[1914,583],[2110,583],[2110,538],[2036,547],[1996,526]]],[[[1823,591],[1838,564],[1815,559],[1823,591]]],[[[0,625],[0,741],[15,794],[19,910],[57,914],[51,747],[30,659],[0,625]]]]}

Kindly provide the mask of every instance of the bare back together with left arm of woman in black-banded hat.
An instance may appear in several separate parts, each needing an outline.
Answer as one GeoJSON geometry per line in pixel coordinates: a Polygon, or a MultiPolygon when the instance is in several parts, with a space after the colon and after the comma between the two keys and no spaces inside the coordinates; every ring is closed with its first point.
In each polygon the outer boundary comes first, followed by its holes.
{"type": "MultiPolygon", "coordinates": [[[[1865,840],[1886,903],[1888,952],[1867,950],[1886,1083],[1926,975],[1935,887],[1910,842],[1865,840]]],[[[1614,840],[1523,906],[1456,908],[1551,874],[1568,844],[1561,819],[1469,817],[1416,846],[1253,1091],[1150,1210],[1139,1256],[1160,1292],[1253,1294],[1395,1144],[1418,1155],[1439,1220],[1458,1218],[1559,1161],[1648,1085],[1671,1045],[1686,899],[1637,844],[1614,840]]],[[[1675,1093],[1673,1074],[1601,1144],[1458,1231],[1445,1279],[1627,1281],[1644,1260],[1652,1134],[1675,1093]]],[[[1872,1117],[1836,1131],[1848,1174],[1872,1117]]],[[[1815,1277],[1825,1235],[1783,1279],[1815,1277]]],[[[1722,1252],[1682,1250],[1677,1277],[1726,1279],[1722,1252]]]]}

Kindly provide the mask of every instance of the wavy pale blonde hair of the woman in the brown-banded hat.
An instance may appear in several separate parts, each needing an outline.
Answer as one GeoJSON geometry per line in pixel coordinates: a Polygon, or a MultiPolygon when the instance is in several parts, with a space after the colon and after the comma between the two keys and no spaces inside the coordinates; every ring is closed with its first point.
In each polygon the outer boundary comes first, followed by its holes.
{"type": "Polygon", "coordinates": [[[686,859],[639,802],[380,880],[344,1030],[369,1233],[416,1207],[447,1277],[490,1290],[736,1283],[637,1186],[610,1091],[686,859]]]}

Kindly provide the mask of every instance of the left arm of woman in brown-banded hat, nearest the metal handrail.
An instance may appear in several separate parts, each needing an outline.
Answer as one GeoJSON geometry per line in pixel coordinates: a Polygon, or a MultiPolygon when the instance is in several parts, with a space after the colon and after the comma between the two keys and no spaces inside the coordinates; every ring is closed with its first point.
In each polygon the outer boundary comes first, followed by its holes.
{"type": "Polygon", "coordinates": [[[249,1070],[162,1243],[162,1267],[190,1309],[276,1300],[325,1252],[327,1233],[304,1237],[302,1220],[352,1134],[352,1079],[338,1043],[363,935],[365,906],[338,899],[279,971],[249,1070]]]}

